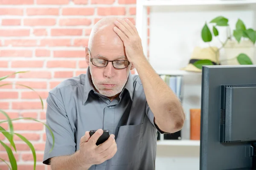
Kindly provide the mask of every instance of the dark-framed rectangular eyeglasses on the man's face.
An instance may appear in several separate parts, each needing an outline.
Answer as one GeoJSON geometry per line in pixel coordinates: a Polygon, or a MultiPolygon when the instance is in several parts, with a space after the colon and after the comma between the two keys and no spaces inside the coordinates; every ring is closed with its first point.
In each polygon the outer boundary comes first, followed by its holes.
{"type": "MultiPolygon", "coordinates": [[[[89,55],[90,55],[90,50],[89,50],[89,55]]],[[[114,68],[117,69],[123,69],[127,68],[130,62],[128,60],[106,60],[106,59],[99,59],[99,58],[91,58],[90,55],[90,61],[92,62],[93,65],[97,67],[106,67],[108,65],[108,62],[112,62],[112,65],[114,68]]]]}

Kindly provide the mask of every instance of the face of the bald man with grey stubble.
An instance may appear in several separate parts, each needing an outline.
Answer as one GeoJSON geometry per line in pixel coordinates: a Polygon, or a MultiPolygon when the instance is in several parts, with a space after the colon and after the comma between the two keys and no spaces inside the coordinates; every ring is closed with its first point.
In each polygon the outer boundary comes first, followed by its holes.
{"type": "Polygon", "coordinates": [[[124,69],[114,68],[112,62],[108,62],[106,67],[101,68],[93,65],[90,62],[90,57],[111,61],[128,60],[125,56],[122,40],[114,34],[96,35],[89,50],[87,50],[88,54],[90,53],[87,55],[87,64],[90,67],[90,74],[96,91],[107,97],[117,96],[127,82],[131,63],[124,69]]]}

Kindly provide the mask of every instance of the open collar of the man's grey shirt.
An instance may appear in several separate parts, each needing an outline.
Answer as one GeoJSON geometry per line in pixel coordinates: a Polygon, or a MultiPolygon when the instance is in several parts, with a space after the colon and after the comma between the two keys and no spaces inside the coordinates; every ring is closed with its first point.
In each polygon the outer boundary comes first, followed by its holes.
{"type": "MultiPolygon", "coordinates": [[[[128,76],[127,82],[125,84],[125,87],[119,95],[120,99],[122,99],[122,95],[123,95],[125,89],[129,92],[129,95],[130,95],[131,100],[132,100],[133,99],[134,88],[133,88],[133,78],[132,78],[131,71],[129,72],[129,76],[128,76]]],[[[94,93],[97,94],[97,92],[95,91],[95,89],[93,87],[93,82],[91,80],[91,75],[90,75],[90,68],[88,67],[87,71],[86,71],[85,81],[84,81],[83,103],[85,103],[87,101],[89,93],[91,91],[93,91],[94,93]]]]}

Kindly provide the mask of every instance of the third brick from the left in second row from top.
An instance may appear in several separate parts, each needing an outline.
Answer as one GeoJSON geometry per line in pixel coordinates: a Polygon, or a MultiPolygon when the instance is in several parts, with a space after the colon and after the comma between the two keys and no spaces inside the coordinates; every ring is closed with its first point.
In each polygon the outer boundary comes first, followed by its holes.
{"type": "Polygon", "coordinates": [[[62,15],[93,15],[94,8],[63,8],[62,15]]]}

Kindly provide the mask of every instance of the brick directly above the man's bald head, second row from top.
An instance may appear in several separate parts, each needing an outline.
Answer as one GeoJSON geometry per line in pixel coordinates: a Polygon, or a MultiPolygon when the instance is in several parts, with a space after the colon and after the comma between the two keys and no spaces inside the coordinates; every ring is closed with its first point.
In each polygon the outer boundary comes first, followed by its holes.
{"type": "Polygon", "coordinates": [[[98,15],[125,15],[125,7],[98,7],[98,15]]]}

